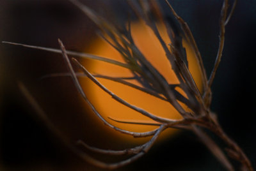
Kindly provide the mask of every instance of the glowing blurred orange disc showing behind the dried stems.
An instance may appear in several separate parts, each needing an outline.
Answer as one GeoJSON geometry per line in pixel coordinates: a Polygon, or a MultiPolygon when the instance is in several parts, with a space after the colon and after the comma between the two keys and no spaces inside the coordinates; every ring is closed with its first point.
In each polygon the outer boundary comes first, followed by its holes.
{"type": "MultiPolygon", "coordinates": [[[[164,29],[164,26],[160,24],[157,26],[161,36],[166,44],[170,43],[168,39],[168,35],[164,29]]],[[[163,48],[161,47],[159,41],[157,40],[154,33],[150,30],[149,27],[145,26],[145,24],[133,23],[131,24],[132,37],[134,38],[134,42],[137,47],[141,50],[143,55],[147,57],[148,61],[153,64],[154,67],[166,78],[166,80],[170,84],[179,84],[179,80],[177,80],[175,73],[173,72],[168,59],[166,59],[163,48]]],[[[200,71],[198,69],[198,64],[196,63],[195,54],[188,46],[186,42],[183,42],[184,47],[186,48],[186,53],[188,56],[189,62],[189,70],[195,79],[196,84],[199,89],[201,87],[200,80],[200,71]]],[[[92,48],[90,49],[91,54],[96,54],[99,56],[108,57],[111,59],[115,59],[117,61],[121,61],[124,63],[122,56],[118,54],[115,48],[111,47],[106,41],[97,39],[92,44],[92,48]]],[[[132,77],[132,73],[120,66],[115,66],[113,64],[108,64],[99,61],[88,61],[82,63],[91,73],[99,73],[102,75],[108,75],[111,77],[132,77]]],[[[104,86],[106,86],[110,91],[120,96],[120,98],[125,101],[136,105],[137,107],[143,108],[148,112],[158,115],[160,117],[166,117],[170,119],[181,119],[180,114],[170,105],[170,103],[159,100],[154,96],[150,96],[149,94],[145,94],[141,91],[128,87],[127,85],[119,84],[116,82],[112,82],[109,80],[105,80],[102,78],[97,78],[104,86]]],[[[132,80],[134,84],[138,84],[138,82],[132,80]]],[[[108,119],[112,117],[114,119],[122,120],[122,121],[135,121],[135,122],[147,122],[153,123],[151,119],[141,115],[131,108],[127,108],[124,105],[118,103],[113,100],[109,94],[104,93],[97,85],[93,84],[88,79],[81,79],[81,84],[83,87],[86,87],[86,94],[88,98],[92,101],[93,105],[97,108],[97,110],[102,114],[102,116],[109,121],[109,123],[117,126],[118,128],[122,128],[124,130],[129,131],[150,131],[156,129],[156,126],[141,126],[136,124],[122,124],[116,123],[108,119]]],[[[182,93],[181,90],[179,90],[182,93]]],[[[184,94],[184,93],[183,93],[184,94]]],[[[186,107],[182,104],[183,107],[186,107]]],[[[169,131],[170,133],[170,131],[169,131]]],[[[168,133],[168,134],[169,134],[168,133]]],[[[173,133],[173,130],[171,131],[173,133]]],[[[117,133],[119,136],[124,136],[121,133],[117,133]]],[[[127,140],[134,139],[133,137],[128,138],[124,136],[127,140]]]]}

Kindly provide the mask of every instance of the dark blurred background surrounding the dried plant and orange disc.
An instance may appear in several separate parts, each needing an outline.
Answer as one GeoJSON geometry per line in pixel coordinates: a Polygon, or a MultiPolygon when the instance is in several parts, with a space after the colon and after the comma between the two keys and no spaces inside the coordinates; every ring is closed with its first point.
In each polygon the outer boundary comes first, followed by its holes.
{"type": "MultiPolygon", "coordinates": [[[[111,6],[125,10],[117,0],[84,0],[96,11],[111,6]]],[[[218,49],[222,1],[170,1],[188,22],[209,75],[218,49]]],[[[90,50],[97,27],[76,6],[63,0],[0,1],[0,41],[67,49],[90,50]]],[[[163,7],[164,10],[168,8],[163,7]]],[[[227,134],[244,149],[256,167],[255,38],[256,1],[238,1],[226,30],[225,50],[212,91],[212,110],[227,134]]],[[[61,132],[83,137],[97,147],[131,147],[129,142],[102,134],[105,126],[86,117],[70,78],[48,78],[64,72],[61,55],[1,43],[0,45],[0,160],[1,170],[101,170],[72,154],[45,128],[22,96],[23,82],[61,132]],[[95,126],[97,124],[97,126],[95,126]],[[95,136],[97,135],[97,136],[95,136]],[[102,143],[104,142],[104,143],[102,143]],[[112,146],[111,146],[112,145],[112,146]]],[[[106,156],[105,156],[106,158],[106,156]]],[[[119,170],[223,170],[192,133],[180,133],[154,147],[143,158],[119,170]]]]}

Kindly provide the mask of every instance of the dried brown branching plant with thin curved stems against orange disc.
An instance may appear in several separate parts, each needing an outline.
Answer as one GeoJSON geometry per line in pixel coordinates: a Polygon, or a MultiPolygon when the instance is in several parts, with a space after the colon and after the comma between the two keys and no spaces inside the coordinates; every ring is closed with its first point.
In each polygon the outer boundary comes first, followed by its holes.
{"type": "MultiPolygon", "coordinates": [[[[84,100],[90,105],[93,112],[99,117],[99,119],[104,124],[106,124],[106,126],[109,126],[110,128],[113,128],[116,131],[125,133],[127,135],[131,135],[133,137],[152,136],[152,138],[147,143],[139,145],[138,147],[133,147],[131,149],[124,149],[122,151],[99,149],[97,147],[91,147],[82,140],[78,141],[78,144],[83,145],[83,147],[93,152],[99,152],[102,154],[109,155],[132,154],[132,156],[130,155],[131,157],[129,156],[129,158],[127,158],[126,160],[119,161],[117,163],[104,163],[103,161],[96,160],[95,158],[92,158],[88,154],[82,152],[77,147],[72,146],[72,149],[74,149],[74,151],[76,151],[76,153],[79,154],[79,156],[81,156],[82,158],[84,158],[84,160],[88,161],[89,163],[92,163],[97,167],[109,169],[119,168],[129,163],[132,163],[132,161],[138,160],[138,158],[140,158],[146,152],[148,152],[150,147],[152,147],[154,142],[156,142],[157,138],[164,130],[168,128],[177,128],[193,131],[200,138],[200,140],[202,140],[202,142],[204,142],[204,144],[209,148],[212,154],[214,154],[214,156],[218,158],[218,160],[223,164],[223,166],[227,168],[227,170],[235,170],[234,166],[230,162],[230,158],[241,164],[241,170],[253,170],[250,160],[248,160],[246,154],[244,154],[243,150],[236,144],[236,142],[234,142],[234,140],[232,140],[226,135],[226,133],[222,130],[220,124],[218,123],[216,114],[212,113],[209,108],[212,100],[211,85],[214,80],[214,76],[216,75],[216,71],[218,70],[218,66],[221,61],[221,55],[224,47],[225,26],[228,24],[228,21],[232,16],[232,13],[236,6],[236,1],[234,1],[234,4],[232,5],[232,8],[230,9],[229,13],[228,0],[223,1],[220,16],[219,48],[216,56],[216,62],[214,63],[214,67],[209,78],[207,78],[206,76],[205,67],[202,62],[202,57],[200,56],[200,52],[198,50],[198,47],[196,46],[195,39],[193,38],[193,34],[191,33],[188,24],[186,24],[186,22],[184,22],[184,20],[180,18],[179,15],[177,15],[177,13],[173,10],[172,5],[167,0],[166,5],[170,7],[173,16],[175,17],[177,22],[179,22],[182,34],[175,34],[172,27],[168,24],[168,22],[165,22],[161,7],[157,4],[157,1],[127,1],[127,4],[129,4],[132,11],[138,17],[138,19],[145,22],[147,26],[150,27],[150,29],[152,29],[155,36],[161,43],[161,48],[164,49],[166,58],[170,62],[172,70],[175,72],[176,77],[179,79],[179,84],[169,84],[166,81],[166,78],[164,78],[164,76],[161,75],[161,73],[159,73],[159,71],[152,65],[152,63],[150,63],[147,60],[147,57],[143,56],[140,49],[136,46],[136,43],[134,43],[131,34],[130,24],[127,24],[128,26],[121,26],[122,24],[115,24],[107,19],[104,19],[104,17],[100,16],[95,11],[91,10],[90,8],[88,8],[87,6],[85,6],[77,0],[70,0],[70,2],[75,4],[78,8],[80,8],[88,17],[90,17],[90,19],[93,20],[93,22],[95,22],[95,24],[97,24],[97,26],[99,26],[100,30],[103,33],[101,34],[102,38],[104,38],[112,47],[118,50],[118,52],[124,58],[125,63],[120,63],[113,59],[107,59],[100,56],[93,56],[91,54],[84,54],[65,50],[65,47],[63,46],[61,40],[59,40],[60,50],[54,48],[35,47],[19,43],[11,44],[22,45],[24,47],[29,48],[38,48],[40,50],[47,50],[50,52],[57,52],[63,54],[63,58],[65,59],[65,63],[67,65],[69,73],[61,73],[55,76],[68,75],[72,77],[72,80],[76,85],[76,88],[81,94],[81,96],[83,96],[84,100]],[[170,43],[168,45],[164,43],[163,38],[161,37],[159,30],[157,29],[155,20],[156,18],[163,22],[168,32],[168,36],[170,39],[170,43]],[[191,73],[188,70],[186,52],[184,52],[184,48],[182,47],[182,37],[184,37],[185,40],[188,41],[189,45],[193,48],[196,60],[198,62],[198,65],[200,66],[200,73],[202,77],[203,86],[201,92],[196,86],[195,81],[193,80],[193,77],[191,76],[191,73]],[[92,75],[75,58],[72,58],[72,62],[77,66],[77,68],[83,71],[83,73],[76,73],[70,62],[70,59],[68,58],[68,55],[96,59],[123,68],[127,68],[134,75],[132,79],[136,79],[141,86],[132,84],[125,78],[110,77],[108,75],[92,75]],[[102,117],[102,115],[100,115],[100,113],[97,111],[97,108],[95,108],[93,104],[88,100],[88,98],[86,97],[86,93],[84,93],[77,78],[80,76],[86,76],[90,78],[90,80],[92,80],[96,85],[98,85],[100,89],[108,93],[113,99],[115,99],[119,103],[122,103],[122,105],[125,105],[126,107],[131,108],[132,110],[136,110],[138,113],[145,115],[148,118],[156,121],[156,123],[136,123],[129,121],[119,121],[112,118],[109,119],[124,124],[154,125],[158,126],[158,128],[153,131],[140,133],[116,128],[115,126],[113,126],[113,124],[110,124],[106,119],[104,119],[104,117],[102,117]],[[122,98],[116,96],[116,94],[109,91],[109,89],[104,87],[104,85],[100,84],[97,78],[105,78],[108,80],[112,80],[114,82],[119,82],[120,84],[128,85],[134,89],[138,89],[152,96],[155,96],[156,98],[159,98],[159,100],[168,101],[168,103],[170,103],[170,105],[172,105],[179,112],[179,114],[182,115],[182,119],[172,120],[159,117],[154,114],[150,114],[150,112],[143,110],[143,108],[136,107],[131,103],[128,103],[127,101],[123,100],[122,98]],[[175,87],[179,87],[180,89],[182,89],[184,93],[186,93],[186,96],[188,98],[180,94],[178,91],[176,91],[175,87]],[[182,107],[179,101],[186,104],[189,110],[182,107]],[[212,133],[218,135],[218,137],[220,137],[223,140],[223,142],[225,142],[225,152],[223,152],[223,149],[221,149],[219,145],[216,144],[211,139],[211,137],[207,135],[207,133],[205,133],[205,130],[209,130],[212,133]]],[[[36,108],[38,113],[40,113],[41,116],[45,119],[45,122],[48,124],[48,126],[50,126],[52,130],[54,130],[54,126],[52,126],[52,124],[49,121],[47,121],[47,117],[45,117],[44,112],[42,111],[40,106],[35,102],[35,100],[33,100],[32,96],[29,94],[26,88],[22,85],[20,85],[20,87],[22,89],[22,92],[28,98],[28,100],[32,101],[31,103],[36,108]]]]}

